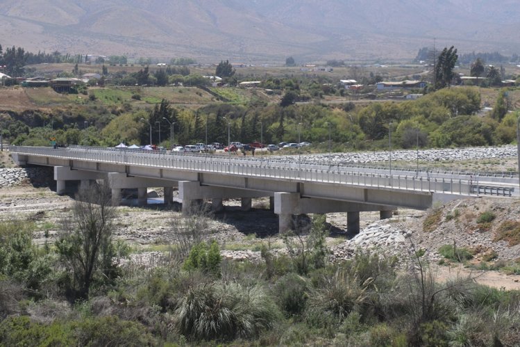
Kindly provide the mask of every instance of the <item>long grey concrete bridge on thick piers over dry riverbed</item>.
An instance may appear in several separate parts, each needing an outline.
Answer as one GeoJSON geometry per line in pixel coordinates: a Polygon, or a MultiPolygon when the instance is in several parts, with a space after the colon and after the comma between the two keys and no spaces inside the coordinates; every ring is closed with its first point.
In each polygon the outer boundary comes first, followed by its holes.
{"type": "Polygon", "coordinates": [[[211,200],[221,211],[223,200],[241,198],[242,209],[251,209],[256,197],[269,197],[279,216],[279,231],[292,229],[292,216],[302,213],[346,212],[349,232],[359,232],[360,212],[380,211],[389,218],[401,207],[428,209],[433,202],[494,194],[512,196],[516,177],[467,177],[446,172],[405,172],[363,167],[329,167],[260,157],[232,155],[146,153],[99,147],[10,146],[19,166],[53,166],[57,192],[65,181],[88,184],[103,179],[119,204],[121,189],[137,188],[138,201],[146,204],[148,187],[164,187],[165,204],[173,191],[183,211],[201,200],[211,200]]]}

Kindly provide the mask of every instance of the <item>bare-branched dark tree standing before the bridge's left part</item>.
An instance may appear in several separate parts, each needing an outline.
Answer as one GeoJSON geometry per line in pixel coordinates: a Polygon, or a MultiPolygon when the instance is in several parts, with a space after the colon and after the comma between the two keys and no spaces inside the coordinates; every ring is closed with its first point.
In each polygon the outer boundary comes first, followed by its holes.
{"type": "MultiPolygon", "coordinates": [[[[112,206],[110,188],[92,184],[76,196],[70,220],[64,220],[56,248],[62,265],[72,274],[72,298],[87,299],[94,275],[113,277],[112,206]]],[[[68,276],[67,273],[67,276],[68,276]]]]}

